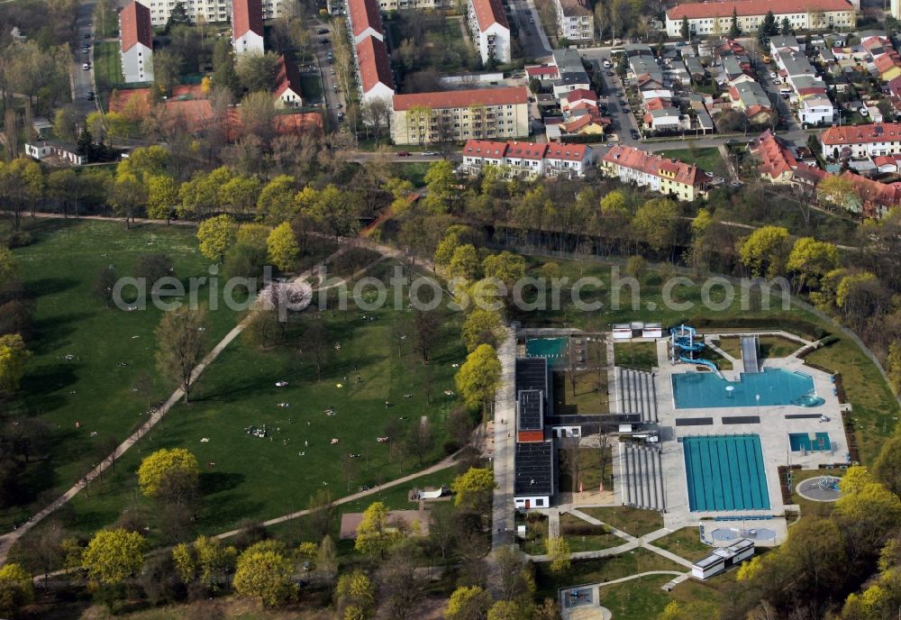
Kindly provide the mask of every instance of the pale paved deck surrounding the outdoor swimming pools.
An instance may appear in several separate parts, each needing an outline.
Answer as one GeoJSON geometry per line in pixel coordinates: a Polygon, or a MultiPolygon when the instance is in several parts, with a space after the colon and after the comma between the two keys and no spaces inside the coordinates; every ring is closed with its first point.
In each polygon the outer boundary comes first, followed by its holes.
{"type": "MultiPolygon", "coordinates": [[[[673,398],[671,376],[678,372],[693,372],[695,367],[688,364],[672,364],[669,361],[667,342],[658,342],[658,365],[655,381],[657,384],[658,415],[660,416],[660,428],[663,435],[662,470],[665,472],[664,488],[666,488],[667,511],[663,515],[664,525],[668,529],[678,529],[686,525],[697,525],[702,519],[724,516],[764,516],[783,515],[785,506],[782,504],[782,493],[778,482],[778,467],[790,462],[792,465],[801,465],[805,470],[816,469],[820,464],[844,462],[847,460],[847,443],[845,441],[844,428],[842,427],[842,409],[838,398],[833,395],[833,383],[827,373],[805,366],[803,360],[795,357],[778,358],[763,361],[763,368],[782,368],[803,372],[814,380],[815,392],[824,397],[822,406],[805,408],[798,406],[745,406],[733,408],[697,408],[677,409],[673,398]],[[787,419],[788,414],[816,415],[814,418],[787,419]],[[760,424],[724,424],[723,418],[737,415],[757,415],[760,424]],[[828,422],[820,422],[818,416],[826,415],[828,422]],[[691,426],[677,426],[676,421],[682,418],[712,418],[712,424],[691,426]],[[769,421],[778,420],[778,424],[769,424],[769,421]],[[767,479],[769,491],[769,510],[742,510],[730,512],[690,512],[688,509],[687,477],[682,444],[678,438],[690,435],[728,435],[755,433],[760,435],[760,446],[763,451],[764,474],[767,479]],[[832,450],[824,452],[810,452],[802,455],[800,452],[788,451],[788,433],[829,433],[832,442],[832,450]]],[[[724,371],[725,378],[737,380],[739,378],[741,364],[735,365],[736,369],[724,371]]],[[[750,522],[749,522],[750,523],[750,522]]],[[[767,522],[760,522],[764,526],[767,522]]],[[[728,522],[724,523],[724,526],[728,522]]],[[[778,528],[784,531],[784,526],[778,528]]]]}

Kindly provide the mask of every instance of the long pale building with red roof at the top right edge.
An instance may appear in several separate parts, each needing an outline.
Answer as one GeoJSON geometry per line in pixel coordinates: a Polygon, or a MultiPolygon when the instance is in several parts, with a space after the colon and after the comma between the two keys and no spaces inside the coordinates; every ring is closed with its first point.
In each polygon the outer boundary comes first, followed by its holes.
{"type": "Polygon", "coordinates": [[[667,11],[667,34],[680,37],[682,18],[696,36],[729,32],[733,11],[742,32],[757,32],[768,11],[776,23],[788,18],[793,30],[848,28],[855,24],[855,9],[848,0],[720,0],[676,5],[667,11]]]}

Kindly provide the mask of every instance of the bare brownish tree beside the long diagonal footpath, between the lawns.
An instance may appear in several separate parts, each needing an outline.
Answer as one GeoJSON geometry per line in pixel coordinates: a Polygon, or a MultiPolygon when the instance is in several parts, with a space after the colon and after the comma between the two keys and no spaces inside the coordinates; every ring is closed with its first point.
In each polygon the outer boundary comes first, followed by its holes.
{"type": "Polygon", "coordinates": [[[194,385],[194,369],[205,351],[205,323],[202,308],[191,310],[181,305],[163,315],[156,331],[157,367],[165,377],[178,381],[186,403],[194,385]]]}

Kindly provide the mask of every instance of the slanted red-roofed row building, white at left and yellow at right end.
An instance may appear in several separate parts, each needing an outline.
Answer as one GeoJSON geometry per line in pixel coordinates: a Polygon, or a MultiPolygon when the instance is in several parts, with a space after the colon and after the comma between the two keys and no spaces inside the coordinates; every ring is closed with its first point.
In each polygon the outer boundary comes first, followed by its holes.
{"type": "Polygon", "coordinates": [[[631,146],[617,145],[608,150],[601,159],[601,170],[607,177],[651,187],[679,200],[694,200],[707,194],[708,178],[703,170],[631,146]]]}

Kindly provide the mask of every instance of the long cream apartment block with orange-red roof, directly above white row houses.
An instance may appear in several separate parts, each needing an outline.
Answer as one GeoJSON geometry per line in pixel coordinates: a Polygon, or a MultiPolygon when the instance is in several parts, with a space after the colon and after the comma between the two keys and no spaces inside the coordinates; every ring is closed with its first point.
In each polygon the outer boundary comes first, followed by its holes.
{"type": "Polygon", "coordinates": [[[392,108],[391,138],[395,144],[529,135],[526,87],[395,95],[392,108]]]}

